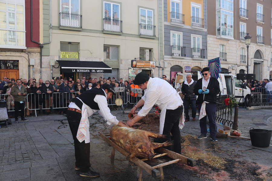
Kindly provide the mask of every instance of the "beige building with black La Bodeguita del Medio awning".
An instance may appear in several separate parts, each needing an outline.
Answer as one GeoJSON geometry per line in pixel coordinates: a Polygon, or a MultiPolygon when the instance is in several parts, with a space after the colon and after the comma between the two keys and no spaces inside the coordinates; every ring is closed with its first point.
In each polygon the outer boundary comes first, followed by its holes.
{"type": "Polygon", "coordinates": [[[127,80],[141,71],[161,76],[163,6],[159,2],[44,0],[43,41],[51,42],[42,49],[42,78],[127,80]]]}

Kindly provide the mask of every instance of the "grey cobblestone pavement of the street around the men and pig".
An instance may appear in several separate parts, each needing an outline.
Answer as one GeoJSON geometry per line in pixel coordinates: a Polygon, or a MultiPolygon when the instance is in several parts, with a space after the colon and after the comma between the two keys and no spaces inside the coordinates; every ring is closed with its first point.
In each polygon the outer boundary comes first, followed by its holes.
{"type": "MultiPolygon", "coordinates": [[[[112,113],[120,121],[127,120],[127,113],[123,114],[120,111],[112,111],[112,113]]],[[[44,115],[29,117],[28,119],[29,122],[19,123],[14,123],[13,119],[13,124],[8,125],[8,127],[1,125],[0,181],[89,180],[80,177],[79,172],[74,170],[73,138],[66,117],[63,115],[44,115]]],[[[238,129],[242,131],[243,136],[249,137],[250,127],[272,129],[272,110],[240,108],[238,120],[238,129]]],[[[111,127],[98,114],[93,115],[89,121],[91,165],[93,170],[101,174],[100,177],[92,180],[136,180],[137,167],[129,163],[118,151],[115,156],[115,166],[110,164],[111,147],[97,133],[98,131],[108,133],[111,127]]],[[[185,127],[181,130],[181,135],[199,135],[199,133],[198,120],[186,122],[185,127]]],[[[213,143],[206,139],[200,140],[199,144],[209,148],[213,143]]],[[[272,176],[271,144],[268,148],[257,148],[252,146],[248,140],[235,138],[219,139],[216,144],[221,149],[232,151],[232,154],[229,154],[229,152],[220,153],[222,157],[257,163],[266,168],[266,172],[270,172],[272,176]]],[[[143,174],[144,180],[155,180],[146,172],[143,174]]],[[[192,176],[193,170],[178,165],[174,165],[172,168],[164,168],[164,174],[165,180],[169,181],[220,180],[212,176],[209,178],[192,176]]]]}

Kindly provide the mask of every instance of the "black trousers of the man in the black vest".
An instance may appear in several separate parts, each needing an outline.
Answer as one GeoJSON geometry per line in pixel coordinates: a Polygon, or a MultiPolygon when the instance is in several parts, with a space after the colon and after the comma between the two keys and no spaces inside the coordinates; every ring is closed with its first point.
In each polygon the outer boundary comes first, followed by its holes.
{"type": "Polygon", "coordinates": [[[90,164],[90,143],[81,143],[76,138],[78,126],[81,119],[81,113],[67,110],[67,119],[73,135],[75,146],[76,167],[80,167],[81,172],[88,172],[90,164]]]}

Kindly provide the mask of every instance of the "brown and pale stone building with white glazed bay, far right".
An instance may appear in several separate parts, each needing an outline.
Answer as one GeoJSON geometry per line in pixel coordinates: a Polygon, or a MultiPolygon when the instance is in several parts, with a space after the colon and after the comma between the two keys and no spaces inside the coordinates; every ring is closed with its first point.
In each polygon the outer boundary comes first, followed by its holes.
{"type": "Polygon", "coordinates": [[[264,0],[207,0],[208,59],[220,57],[223,71],[247,73],[246,33],[249,72],[257,80],[272,74],[272,4],[264,0]]]}

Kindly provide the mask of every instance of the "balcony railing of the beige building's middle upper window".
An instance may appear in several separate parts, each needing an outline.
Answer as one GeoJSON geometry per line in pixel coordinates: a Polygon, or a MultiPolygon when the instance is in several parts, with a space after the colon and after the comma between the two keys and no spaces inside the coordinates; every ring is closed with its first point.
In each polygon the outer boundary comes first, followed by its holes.
{"type": "Polygon", "coordinates": [[[103,19],[103,31],[104,32],[116,32],[117,34],[122,33],[123,21],[114,19],[103,19]]]}

